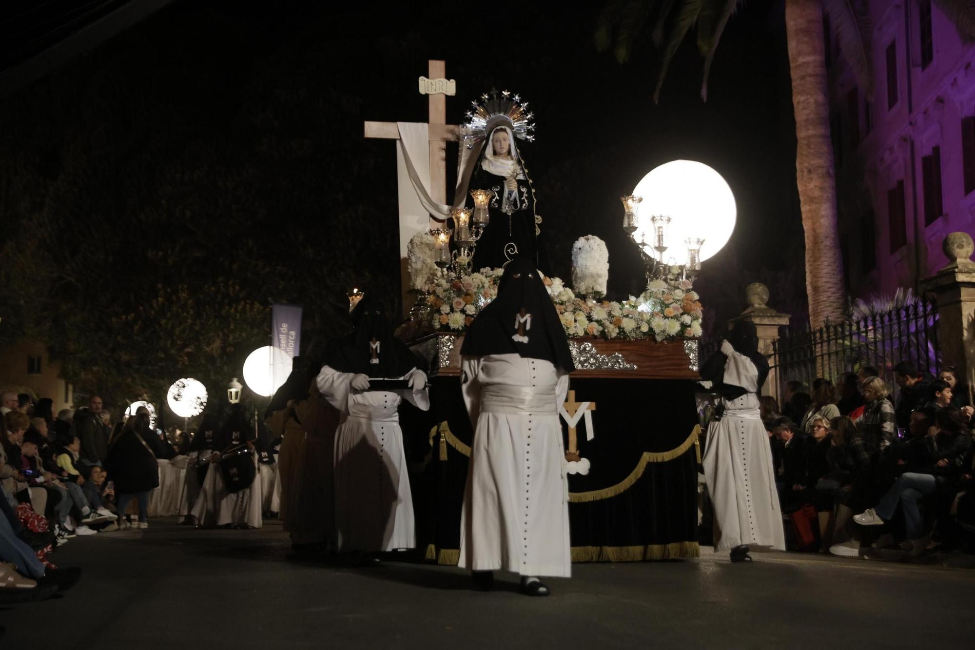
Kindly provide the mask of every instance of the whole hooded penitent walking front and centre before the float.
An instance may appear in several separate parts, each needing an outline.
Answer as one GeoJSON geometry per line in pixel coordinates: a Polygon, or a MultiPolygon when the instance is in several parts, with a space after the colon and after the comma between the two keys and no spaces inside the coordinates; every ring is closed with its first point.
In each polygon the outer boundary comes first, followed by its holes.
{"type": "Polygon", "coordinates": [[[574,370],[565,330],[535,264],[505,266],[497,298],[464,339],[461,389],[474,439],[464,490],[459,566],[476,587],[493,571],[548,595],[541,576],[567,578],[571,553],[558,407],[574,370]]]}

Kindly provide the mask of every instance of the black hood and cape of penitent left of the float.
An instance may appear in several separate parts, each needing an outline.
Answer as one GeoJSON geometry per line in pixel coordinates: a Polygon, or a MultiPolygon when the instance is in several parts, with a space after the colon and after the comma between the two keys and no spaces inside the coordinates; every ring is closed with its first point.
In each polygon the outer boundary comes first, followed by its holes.
{"type": "Polygon", "coordinates": [[[340,373],[395,379],[416,368],[417,358],[393,336],[385,309],[367,295],[352,311],[352,332],[332,341],[325,365],[340,373]]]}

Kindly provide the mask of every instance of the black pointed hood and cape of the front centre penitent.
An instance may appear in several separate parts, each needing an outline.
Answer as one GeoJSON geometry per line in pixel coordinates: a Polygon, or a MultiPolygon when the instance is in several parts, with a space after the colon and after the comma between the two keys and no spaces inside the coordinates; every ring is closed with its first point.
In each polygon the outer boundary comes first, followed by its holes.
{"type": "Polygon", "coordinates": [[[572,372],[572,354],[559,314],[534,264],[517,257],[504,268],[497,298],[481,310],[464,337],[464,356],[517,352],[572,372]]]}

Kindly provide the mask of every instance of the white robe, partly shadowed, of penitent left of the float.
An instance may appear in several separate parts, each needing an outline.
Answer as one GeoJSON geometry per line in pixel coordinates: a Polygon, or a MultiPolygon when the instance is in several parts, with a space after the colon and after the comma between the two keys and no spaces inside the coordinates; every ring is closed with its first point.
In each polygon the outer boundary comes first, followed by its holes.
{"type": "MultiPolygon", "coordinates": [[[[402,378],[426,375],[412,369],[402,378]]],[[[403,431],[397,407],[407,399],[430,408],[427,389],[352,389],[353,373],[324,366],[316,384],[341,414],[335,430],[335,526],[338,549],[395,550],[416,546],[403,431]]]]}

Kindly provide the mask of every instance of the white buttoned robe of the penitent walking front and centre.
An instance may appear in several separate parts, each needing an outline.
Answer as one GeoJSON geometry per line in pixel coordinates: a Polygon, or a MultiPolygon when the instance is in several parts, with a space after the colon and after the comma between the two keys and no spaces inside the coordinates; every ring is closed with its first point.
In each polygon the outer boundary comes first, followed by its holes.
{"type": "Polygon", "coordinates": [[[462,367],[474,440],[458,566],[567,578],[568,482],[558,407],[568,375],[515,353],[465,357],[462,367]]]}

